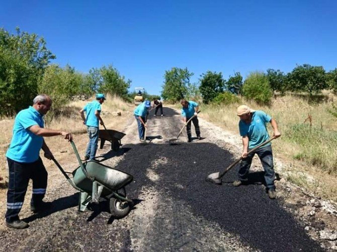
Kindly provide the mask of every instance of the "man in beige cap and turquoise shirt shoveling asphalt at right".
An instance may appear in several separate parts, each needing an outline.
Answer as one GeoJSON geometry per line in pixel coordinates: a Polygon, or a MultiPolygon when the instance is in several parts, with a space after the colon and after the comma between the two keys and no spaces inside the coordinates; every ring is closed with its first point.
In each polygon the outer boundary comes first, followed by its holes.
{"type": "Polygon", "coordinates": [[[242,137],[243,151],[242,161],[238,172],[238,180],[233,182],[234,186],[239,186],[248,181],[248,172],[251,160],[255,154],[258,154],[262,166],[265,170],[265,180],[268,189],[268,196],[271,199],[276,198],[275,191],[275,171],[273,163],[273,151],[270,143],[262,146],[255,152],[247,155],[248,151],[262,144],[269,139],[266,123],[270,122],[276,138],[281,136],[277,128],[276,120],[261,110],[254,110],[247,105],[241,105],[237,108],[236,114],[240,117],[239,131],[242,137]]]}

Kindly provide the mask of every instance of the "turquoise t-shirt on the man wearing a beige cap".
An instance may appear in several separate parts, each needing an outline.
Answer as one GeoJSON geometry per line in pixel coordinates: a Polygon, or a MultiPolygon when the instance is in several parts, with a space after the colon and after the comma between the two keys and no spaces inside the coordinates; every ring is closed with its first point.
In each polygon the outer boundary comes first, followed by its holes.
{"type": "MultiPolygon", "coordinates": [[[[247,136],[249,139],[248,149],[252,149],[262,144],[269,139],[266,122],[270,122],[272,117],[264,111],[257,110],[252,112],[251,122],[245,123],[243,120],[239,121],[240,136],[247,136]]],[[[265,146],[271,145],[268,143],[265,146]]]]}

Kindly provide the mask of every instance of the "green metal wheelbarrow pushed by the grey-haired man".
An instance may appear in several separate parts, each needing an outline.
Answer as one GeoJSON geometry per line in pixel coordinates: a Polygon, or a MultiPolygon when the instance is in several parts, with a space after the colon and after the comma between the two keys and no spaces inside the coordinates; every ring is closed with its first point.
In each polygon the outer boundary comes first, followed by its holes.
{"type": "Polygon", "coordinates": [[[100,164],[97,161],[82,163],[75,144],[71,141],[79,167],[72,174],[72,179],[53,158],[68,182],[80,192],[78,210],[84,212],[90,202],[99,203],[101,198],[109,200],[110,213],[115,218],[126,216],[133,201],[126,196],[125,186],[130,184],[133,176],[121,170],[100,164]]]}

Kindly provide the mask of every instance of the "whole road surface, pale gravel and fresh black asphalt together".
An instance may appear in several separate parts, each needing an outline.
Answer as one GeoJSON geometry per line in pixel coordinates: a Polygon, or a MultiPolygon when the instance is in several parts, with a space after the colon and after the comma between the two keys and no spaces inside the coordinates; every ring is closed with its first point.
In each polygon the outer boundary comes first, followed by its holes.
{"type": "MultiPolygon", "coordinates": [[[[46,195],[52,208],[32,215],[27,195],[20,216],[30,227],[14,230],[1,223],[0,250],[322,250],[279,200],[268,198],[261,172],[251,173],[252,183],[237,188],[231,185],[237,167],[225,175],[222,186],[206,182],[208,174],[237,158],[233,153],[241,147],[224,141],[201,119],[204,140],[168,145],[167,140],[176,137],[182,122],[175,110],[164,108],[164,112],[163,117],[149,117],[148,145],[138,142],[136,121],[130,118],[119,152],[110,151],[108,145],[98,152],[105,165],[134,176],[127,186],[128,197],[136,202],[129,215],[111,218],[106,202],[93,205],[94,211],[77,212],[78,193],[54,167],[49,170],[46,195]]],[[[182,142],[187,141],[184,135],[182,142]]],[[[78,166],[74,155],[61,165],[67,171],[78,166]]],[[[5,207],[3,202],[2,214],[5,207]]]]}

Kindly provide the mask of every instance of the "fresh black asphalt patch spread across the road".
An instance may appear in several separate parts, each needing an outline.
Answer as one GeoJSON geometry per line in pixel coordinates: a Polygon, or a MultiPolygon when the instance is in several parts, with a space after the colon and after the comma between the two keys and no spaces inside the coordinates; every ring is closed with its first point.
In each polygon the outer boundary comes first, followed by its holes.
{"type": "MultiPolygon", "coordinates": [[[[236,159],[229,151],[198,141],[126,147],[131,150],[116,168],[134,177],[134,183],[126,187],[128,197],[138,198],[142,187],[154,187],[162,197],[170,197],[196,216],[218,223],[223,230],[239,235],[242,242],[258,250],[321,250],[279,203],[281,199],[269,199],[262,186],[264,172],[249,173],[251,181],[246,186],[218,186],[206,182],[209,174],[222,171],[236,159]],[[146,176],[154,162],[157,181],[146,176]]],[[[228,171],[223,180],[237,179],[238,168],[237,165],[228,171]]]]}

